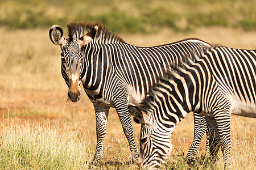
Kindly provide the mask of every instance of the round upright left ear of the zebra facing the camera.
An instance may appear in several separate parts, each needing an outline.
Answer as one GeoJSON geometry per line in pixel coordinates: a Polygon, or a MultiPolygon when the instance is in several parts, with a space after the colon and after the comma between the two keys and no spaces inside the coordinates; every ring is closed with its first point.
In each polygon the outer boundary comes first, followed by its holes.
{"type": "Polygon", "coordinates": [[[62,46],[65,43],[63,30],[58,25],[52,25],[51,29],[49,30],[49,37],[55,45],[62,46]]]}

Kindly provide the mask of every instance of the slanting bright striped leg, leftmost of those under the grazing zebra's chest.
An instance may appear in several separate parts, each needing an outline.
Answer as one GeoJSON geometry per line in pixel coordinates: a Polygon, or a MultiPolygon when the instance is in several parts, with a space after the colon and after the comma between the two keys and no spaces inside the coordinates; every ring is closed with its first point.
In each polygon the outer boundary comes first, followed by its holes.
{"type": "Polygon", "coordinates": [[[199,147],[199,144],[201,142],[201,139],[203,138],[203,135],[205,134],[205,131],[207,131],[207,124],[205,121],[205,117],[202,116],[199,113],[193,113],[193,117],[194,117],[194,139],[193,142],[191,144],[191,147],[188,150],[188,154],[185,157],[185,161],[187,163],[189,163],[189,161],[191,159],[193,159],[193,157],[196,154],[196,150],[199,147]]]}

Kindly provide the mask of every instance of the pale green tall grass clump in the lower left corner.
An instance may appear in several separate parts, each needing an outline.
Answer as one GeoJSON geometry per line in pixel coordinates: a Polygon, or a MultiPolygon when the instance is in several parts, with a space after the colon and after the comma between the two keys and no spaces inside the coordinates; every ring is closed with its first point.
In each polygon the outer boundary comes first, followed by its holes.
{"type": "Polygon", "coordinates": [[[85,169],[93,155],[88,143],[58,125],[1,124],[0,169],[85,169]]]}

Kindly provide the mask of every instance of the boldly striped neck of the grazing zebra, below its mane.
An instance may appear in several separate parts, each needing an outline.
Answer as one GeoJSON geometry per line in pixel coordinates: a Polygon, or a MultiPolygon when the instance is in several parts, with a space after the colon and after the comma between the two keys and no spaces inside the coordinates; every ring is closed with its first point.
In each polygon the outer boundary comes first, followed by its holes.
{"type": "Polygon", "coordinates": [[[189,112],[201,112],[200,95],[203,84],[205,81],[212,81],[209,77],[203,80],[200,69],[177,73],[172,70],[160,78],[160,82],[140,105],[144,113],[152,114],[152,120],[166,121],[164,126],[167,128],[178,124],[189,112]]]}

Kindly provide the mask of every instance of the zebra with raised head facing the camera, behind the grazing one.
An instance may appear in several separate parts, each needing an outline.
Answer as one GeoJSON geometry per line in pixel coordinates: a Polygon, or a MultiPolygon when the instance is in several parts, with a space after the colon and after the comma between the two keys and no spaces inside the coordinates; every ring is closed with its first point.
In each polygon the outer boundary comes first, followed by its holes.
{"type": "Polygon", "coordinates": [[[130,145],[132,161],[138,159],[128,103],[138,103],[164,74],[186,55],[204,54],[211,46],[197,39],[172,44],[138,47],[127,44],[100,23],[70,23],[68,38],[63,29],[52,25],[49,37],[61,48],[61,74],[68,97],[79,101],[80,83],[96,113],[97,146],[94,162],[102,159],[103,142],[110,107],[114,107],[130,145]]]}

